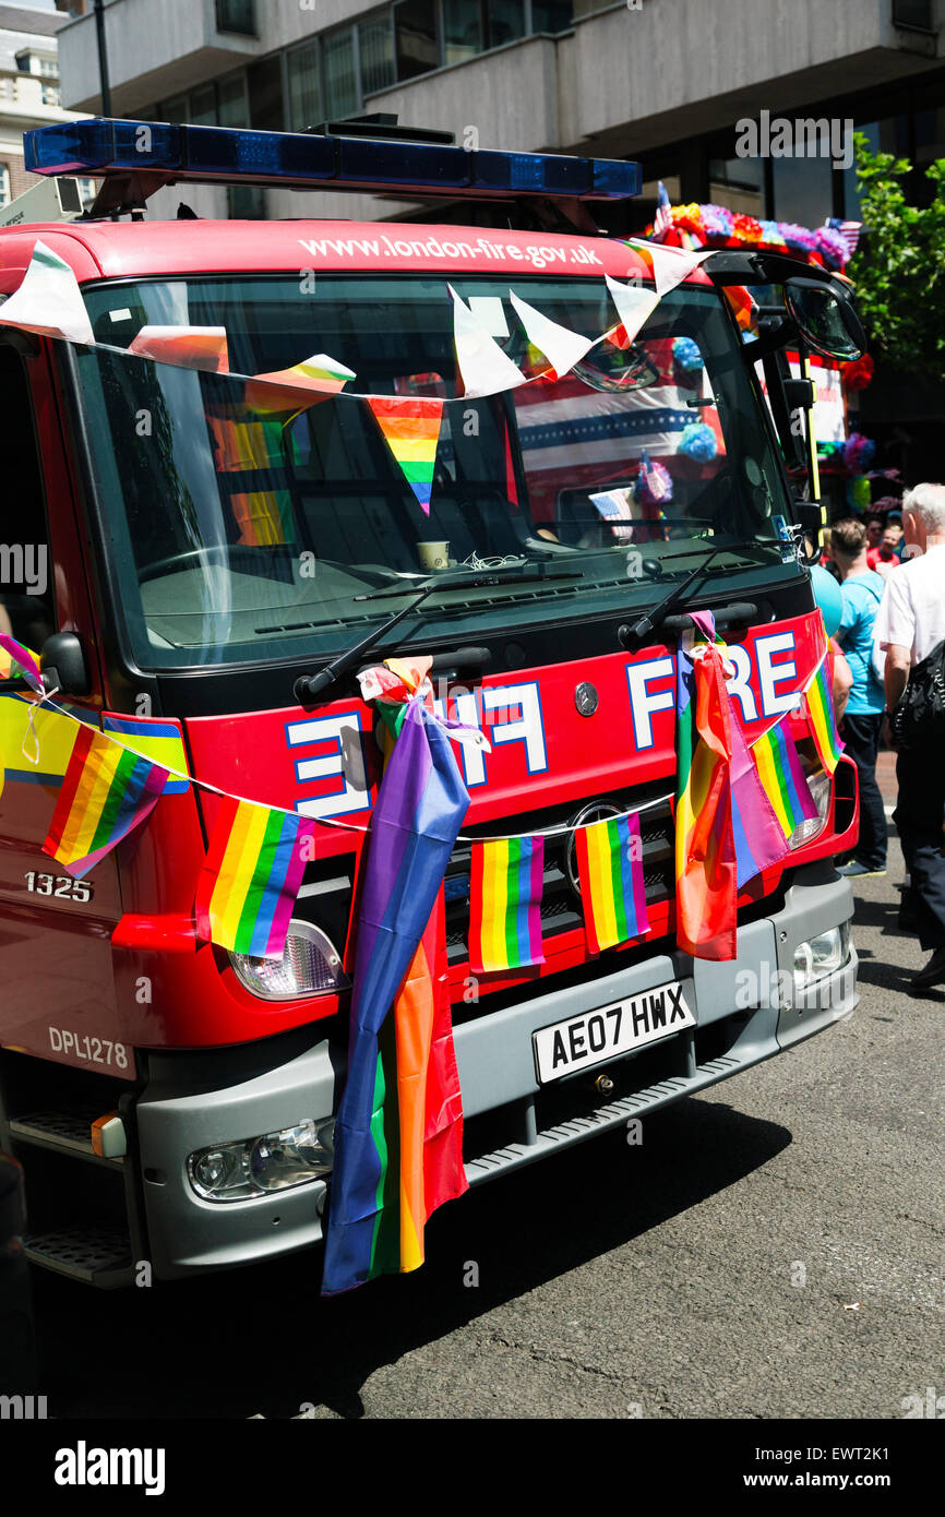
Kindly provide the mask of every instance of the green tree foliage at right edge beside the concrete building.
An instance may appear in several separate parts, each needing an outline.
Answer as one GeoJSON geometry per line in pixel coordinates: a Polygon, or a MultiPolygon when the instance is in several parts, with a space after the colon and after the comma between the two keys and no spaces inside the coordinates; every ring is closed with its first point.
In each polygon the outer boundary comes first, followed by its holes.
{"type": "Polygon", "coordinates": [[[945,158],[925,170],[928,206],[909,205],[906,158],[872,153],[857,132],[857,181],[868,235],[846,267],[869,350],[913,376],[945,379],[945,158]]]}

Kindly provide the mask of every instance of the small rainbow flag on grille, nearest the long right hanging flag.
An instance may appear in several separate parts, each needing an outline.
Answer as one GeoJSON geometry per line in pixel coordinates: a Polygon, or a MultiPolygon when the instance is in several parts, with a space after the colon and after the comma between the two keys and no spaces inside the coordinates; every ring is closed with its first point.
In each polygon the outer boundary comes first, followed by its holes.
{"type": "Polygon", "coordinates": [[[639,816],[611,816],[575,831],[578,878],[592,953],[649,931],[639,816]]]}

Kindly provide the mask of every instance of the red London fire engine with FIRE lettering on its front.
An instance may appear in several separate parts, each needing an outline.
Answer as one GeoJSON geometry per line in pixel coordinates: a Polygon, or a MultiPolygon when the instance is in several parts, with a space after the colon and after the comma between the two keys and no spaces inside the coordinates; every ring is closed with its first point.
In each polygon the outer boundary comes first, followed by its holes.
{"type": "Polygon", "coordinates": [[[431,654],[438,710],[490,740],[461,752],[472,804],[444,881],[470,1183],[848,1015],[852,900],[831,860],[856,839],[856,771],[824,769],[798,705],[822,655],[804,555],[821,520],[798,484],[810,385],[784,363],[856,356],[846,282],[766,253],[693,262],[633,341],[446,405],[425,513],[366,405],[262,425],[232,375],[326,353],[356,391],[464,396],[451,287],[526,375],[513,293],[596,340],[616,323],[608,278],[654,285],[645,247],[595,221],[639,194],[639,165],[108,120],[30,133],[27,153],[100,191],[80,218],[0,229],[0,297],[41,241],[94,343],[0,325],[0,619],[71,718],[173,771],[147,825],[71,877],[42,840],[74,724],[42,715],[36,755],[30,690],[17,671],[0,683],[0,1150],[24,1170],[27,1256],[111,1286],[143,1262],[168,1279],[322,1241],[379,781],[355,675],[387,657],[431,654]],[[155,190],[205,182],[441,197],[499,225],[147,215],[155,190]],[[733,288],[766,313],[751,334],[733,288]],[[231,375],[127,353],[168,326],[223,328],[231,375]],[[702,457],[681,446],[693,422],[714,438],[702,457]],[[672,498],[654,507],[639,485],[655,464],[672,498]],[[733,962],[675,938],[675,652],[693,610],[725,639],[746,739],[789,722],[816,810],[740,890],[733,962]],[[188,775],[323,824],[282,962],[197,939],[215,798],[188,775]],[[649,933],[593,954],[573,828],[633,807],[649,933]],[[545,963],[473,994],[469,839],[535,831],[545,963]],[[673,1030],[660,1006],[680,997],[673,1030]],[[616,1044],[554,1038],[614,1007],[616,1044]]]}

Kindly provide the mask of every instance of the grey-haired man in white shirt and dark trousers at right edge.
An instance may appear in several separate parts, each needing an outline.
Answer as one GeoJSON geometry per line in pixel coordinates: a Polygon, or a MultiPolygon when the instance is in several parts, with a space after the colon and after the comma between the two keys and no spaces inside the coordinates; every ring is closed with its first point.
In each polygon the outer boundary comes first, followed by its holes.
{"type": "MultiPolygon", "coordinates": [[[[945,485],[919,484],[903,498],[906,554],[886,576],[874,642],[886,654],[886,716],[909,671],[945,639],[945,485]],[[918,555],[918,557],[916,557],[918,555]]],[[[899,798],[893,821],[912,877],[919,944],[931,959],[912,986],[945,985],[945,751],[896,757],[899,798]]]]}

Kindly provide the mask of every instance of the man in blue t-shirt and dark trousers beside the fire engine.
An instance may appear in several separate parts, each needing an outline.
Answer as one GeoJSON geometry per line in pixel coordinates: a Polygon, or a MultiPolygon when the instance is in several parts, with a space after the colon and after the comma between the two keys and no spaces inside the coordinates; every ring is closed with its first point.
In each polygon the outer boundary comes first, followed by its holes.
{"type": "Polygon", "coordinates": [[[830,551],[840,570],[843,619],[837,642],[852,674],[852,689],[843,711],[840,736],[860,777],[860,839],[840,874],[863,877],[886,874],[886,812],[877,784],[877,751],[883,730],[886,696],[872,664],[872,623],[883,599],[883,576],[866,563],[866,528],[846,517],[834,522],[830,551]]]}

